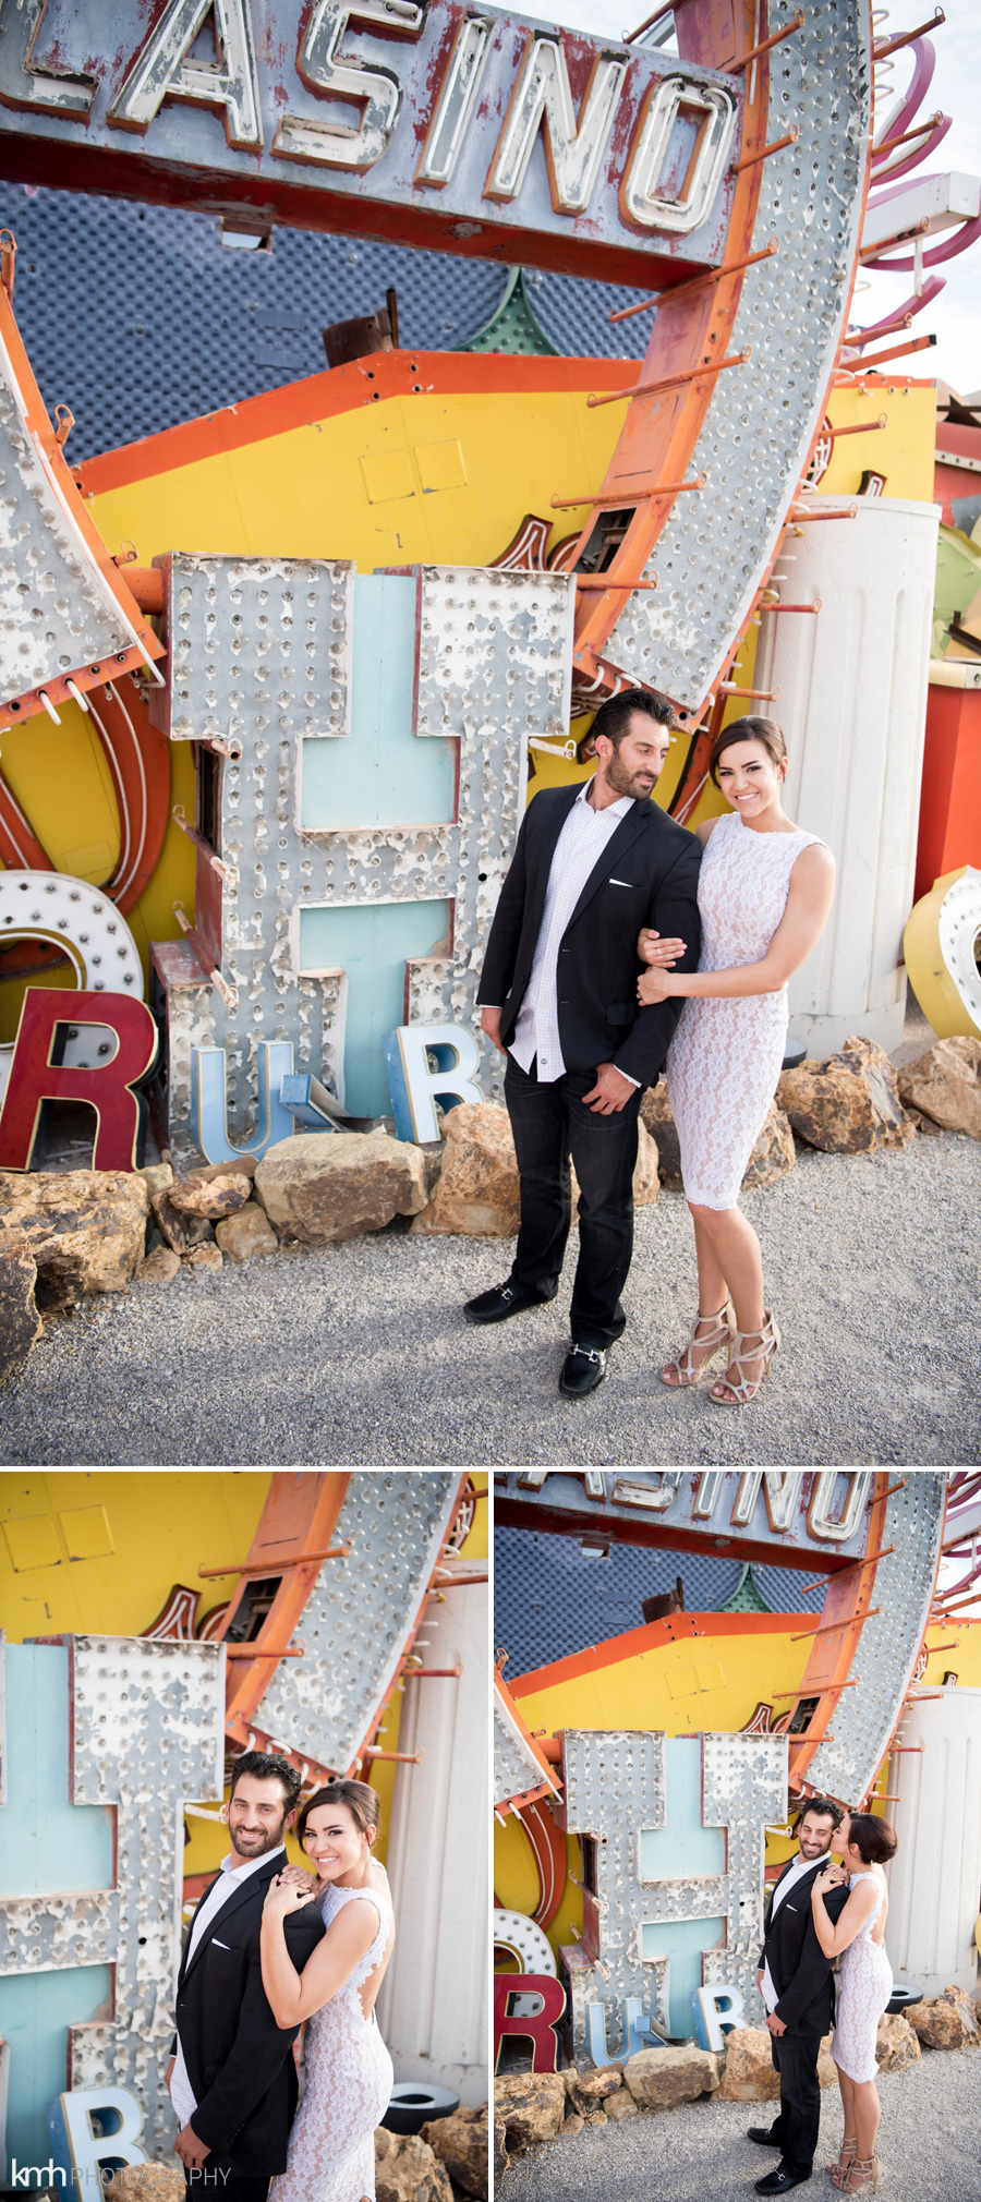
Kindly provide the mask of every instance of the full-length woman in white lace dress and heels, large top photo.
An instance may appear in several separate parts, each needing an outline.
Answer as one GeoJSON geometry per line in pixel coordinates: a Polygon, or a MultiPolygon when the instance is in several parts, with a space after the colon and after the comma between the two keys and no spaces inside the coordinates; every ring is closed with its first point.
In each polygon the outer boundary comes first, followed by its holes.
{"type": "Polygon", "coordinates": [[[763,1257],[739,1187],[781,1075],[787,978],[827,923],[834,857],[783,810],[787,751],[776,720],[735,720],[717,735],[708,771],[732,810],[697,828],[699,967],[673,971],[684,942],[642,931],[638,953],[651,969],[638,1000],[686,998],[666,1088],[695,1224],[699,1312],[662,1383],[695,1385],[726,1348],[726,1376],[710,1398],[746,1407],[781,1334],[763,1306],[763,1257]]]}

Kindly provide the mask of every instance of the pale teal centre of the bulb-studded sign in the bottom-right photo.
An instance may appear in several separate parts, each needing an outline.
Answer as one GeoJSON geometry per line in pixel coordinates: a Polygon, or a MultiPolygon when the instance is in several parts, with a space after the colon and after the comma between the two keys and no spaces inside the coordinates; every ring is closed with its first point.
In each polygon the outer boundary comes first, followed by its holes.
{"type": "MultiPolygon", "coordinates": [[[[664,1742],[666,1825],[640,1830],[640,1881],[680,1881],[693,1874],[726,1872],[726,1834],[702,1825],[702,1744],[686,1735],[664,1742]]],[[[649,1892],[651,1909],[655,1889],[649,1892]]],[[[691,1997],[702,1986],[702,1951],[715,1949],[726,1931],[724,1918],[666,1920],[644,1925],[644,1960],[669,1958],[671,2032],[691,2035],[691,1997]]]]}

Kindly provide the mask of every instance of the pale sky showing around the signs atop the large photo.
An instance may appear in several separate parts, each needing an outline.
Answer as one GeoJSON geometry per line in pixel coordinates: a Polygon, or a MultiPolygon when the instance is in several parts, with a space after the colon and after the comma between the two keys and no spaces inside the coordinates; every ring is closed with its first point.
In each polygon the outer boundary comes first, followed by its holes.
{"type": "MultiPolygon", "coordinates": [[[[649,0],[647,7],[644,0],[554,0],[548,9],[528,7],[528,13],[548,15],[552,22],[587,31],[596,40],[620,40],[625,31],[633,31],[651,13],[653,4],[655,0],[649,0]],[[631,4],[636,13],[629,13],[631,4]]],[[[823,7],[825,0],[809,0],[809,4],[823,7]]],[[[880,35],[882,29],[895,35],[897,31],[913,29],[917,22],[926,22],[930,11],[933,0],[904,0],[904,4],[891,7],[889,22],[878,24],[878,31],[880,35]]],[[[948,172],[981,176],[979,0],[946,0],[946,22],[935,33],[933,44],[937,70],[919,117],[933,115],[939,108],[952,117],[952,128],[935,156],[926,159],[922,170],[913,170],[913,181],[919,174],[948,172]]],[[[906,88],[911,75],[913,62],[908,53],[897,53],[893,73],[897,92],[906,88]]],[[[948,260],[937,273],[946,275],[946,291],[941,291],[933,306],[924,306],[911,328],[911,335],[935,335],[937,350],[930,352],[928,361],[924,361],[924,355],[915,355],[911,372],[937,374],[939,381],[952,383],[961,394],[977,392],[981,390],[981,238],[966,253],[948,260]]],[[[856,295],[853,306],[853,319],[860,324],[882,321],[913,291],[913,275],[867,273],[862,280],[869,288],[856,295]]]]}

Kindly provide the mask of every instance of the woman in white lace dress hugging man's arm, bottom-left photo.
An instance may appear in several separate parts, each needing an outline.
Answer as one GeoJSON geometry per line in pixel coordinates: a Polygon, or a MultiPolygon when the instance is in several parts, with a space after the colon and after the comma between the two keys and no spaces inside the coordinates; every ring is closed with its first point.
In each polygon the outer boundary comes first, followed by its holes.
{"type": "Polygon", "coordinates": [[[262,1911],[262,1986],[277,2026],[306,2028],[306,2092],[286,2171],[271,2202],[374,2202],[374,2129],[392,2099],[392,2057],[374,1999],[392,1953],[387,1881],[372,1861],[378,1797],[367,1781],[330,1781],[299,1817],[317,1867],[326,1936],[297,1973],[284,1918],[310,1903],[310,1878],[288,1867],[262,1911]]]}

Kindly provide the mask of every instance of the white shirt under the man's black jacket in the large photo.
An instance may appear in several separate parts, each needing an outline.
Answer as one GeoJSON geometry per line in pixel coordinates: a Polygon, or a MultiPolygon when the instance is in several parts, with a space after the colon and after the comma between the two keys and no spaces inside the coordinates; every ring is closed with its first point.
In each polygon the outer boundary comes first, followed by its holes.
{"type": "MultiPolygon", "coordinates": [[[[559,947],[578,896],[611,841],[620,819],[633,810],[633,795],[620,795],[605,810],[594,810],[589,802],[592,780],[585,780],[565,826],[559,835],[548,874],[545,907],[541,912],[539,940],[534,947],[532,975],[515,1037],[508,1053],[521,1070],[530,1070],[534,1057],[541,1086],[552,1086],[565,1072],[559,1042],[559,947]]],[[[627,1072],[622,1072],[627,1077],[627,1072]]],[[[631,1086],[638,1081],[631,1079],[631,1086]]]]}

